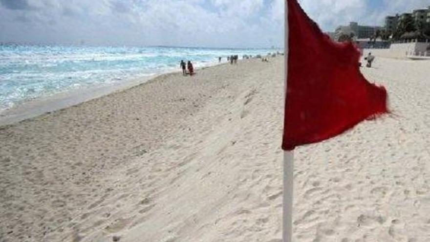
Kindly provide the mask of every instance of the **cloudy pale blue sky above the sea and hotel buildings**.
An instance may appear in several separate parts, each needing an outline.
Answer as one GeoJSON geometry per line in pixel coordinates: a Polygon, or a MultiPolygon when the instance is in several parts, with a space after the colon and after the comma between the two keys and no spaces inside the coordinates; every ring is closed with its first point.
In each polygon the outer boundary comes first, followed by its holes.
{"type": "MultiPolygon", "coordinates": [[[[430,0],[300,0],[323,31],[427,8],[430,0]]],[[[284,0],[0,0],[0,42],[271,47],[284,0]]]]}

